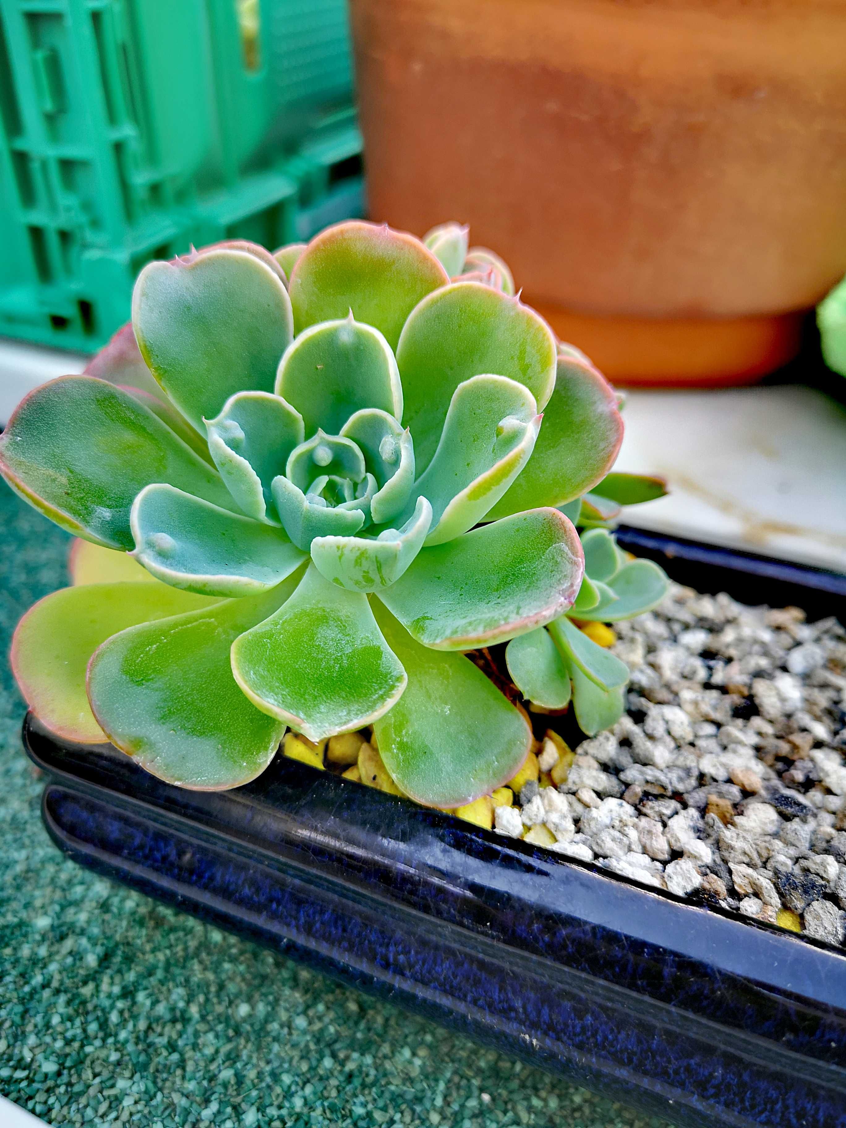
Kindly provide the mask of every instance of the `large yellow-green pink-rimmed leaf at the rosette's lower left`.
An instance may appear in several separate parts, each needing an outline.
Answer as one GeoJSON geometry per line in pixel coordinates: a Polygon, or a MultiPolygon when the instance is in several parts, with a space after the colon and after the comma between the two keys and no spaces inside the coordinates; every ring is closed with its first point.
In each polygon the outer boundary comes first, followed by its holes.
{"type": "Polygon", "coordinates": [[[20,693],[51,732],[81,743],[105,741],[86,696],[86,669],[95,650],[136,623],[213,602],[156,581],[82,583],[54,591],[30,607],[15,631],[10,662],[20,693]]]}

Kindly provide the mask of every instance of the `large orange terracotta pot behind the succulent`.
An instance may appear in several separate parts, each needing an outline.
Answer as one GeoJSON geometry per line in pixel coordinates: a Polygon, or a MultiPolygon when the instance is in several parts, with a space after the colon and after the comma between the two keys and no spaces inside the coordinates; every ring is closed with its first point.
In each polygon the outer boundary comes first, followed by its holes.
{"type": "Polygon", "coordinates": [[[469,222],[631,382],[740,382],[846,272],[846,0],[352,0],[371,215],[469,222]]]}

